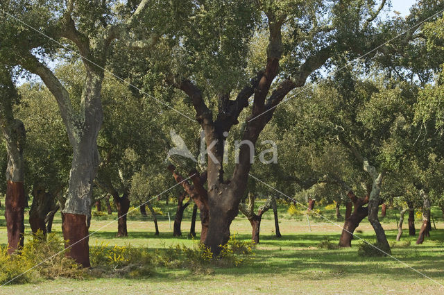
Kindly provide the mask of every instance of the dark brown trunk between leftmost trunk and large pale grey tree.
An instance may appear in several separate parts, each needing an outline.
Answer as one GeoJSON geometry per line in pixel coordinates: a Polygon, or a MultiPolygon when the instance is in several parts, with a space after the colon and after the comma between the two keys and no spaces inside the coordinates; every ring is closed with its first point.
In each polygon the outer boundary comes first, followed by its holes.
{"type": "Polygon", "coordinates": [[[29,224],[33,234],[37,233],[37,230],[41,230],[43,235],[46,235],[45,219],[51,212],[51,208],[53,208],[53,196],[45,192],[44,187],[34,185],[33,203],[31,210],[29,210],[29,224]]]}

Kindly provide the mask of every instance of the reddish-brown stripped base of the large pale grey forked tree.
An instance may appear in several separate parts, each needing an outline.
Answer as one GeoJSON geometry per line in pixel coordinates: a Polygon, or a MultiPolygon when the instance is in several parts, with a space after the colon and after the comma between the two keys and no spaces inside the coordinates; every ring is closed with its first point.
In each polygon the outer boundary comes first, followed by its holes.
{"type": "Polygon", "coordinates": [[[71,213],[63,215],[63,238],[67,248],[65,255],[74,258],[83,267],[90,267],[86,215],[71,213]]]}

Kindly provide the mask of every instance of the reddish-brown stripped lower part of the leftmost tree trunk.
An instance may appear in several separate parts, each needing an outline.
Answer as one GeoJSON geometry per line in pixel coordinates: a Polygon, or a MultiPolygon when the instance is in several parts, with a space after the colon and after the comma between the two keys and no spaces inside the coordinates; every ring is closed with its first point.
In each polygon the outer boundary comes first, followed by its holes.
{"type": "Polygon", "coordinates": [[[8,232],[8,253],[23,246],[25,191],[22,182],[8,181],[6,184],[5,219],[8,232]]]}

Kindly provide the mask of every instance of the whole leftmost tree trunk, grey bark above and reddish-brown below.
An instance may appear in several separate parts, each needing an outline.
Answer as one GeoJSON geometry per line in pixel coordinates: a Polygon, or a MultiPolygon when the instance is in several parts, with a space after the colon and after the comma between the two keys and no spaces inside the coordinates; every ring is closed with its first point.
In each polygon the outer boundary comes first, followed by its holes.
{"type": "Polygon", "coordinates": [[[9,69],[0,69],[0,129],[6,143],[8,166],[6,167],[5,219],[8,234],[8,253],[21,248],[24,242],[24,191],[23,149],[26,130],[19,119],[14,119],[12,105],[17,99],[17,90],[9,69]]]}

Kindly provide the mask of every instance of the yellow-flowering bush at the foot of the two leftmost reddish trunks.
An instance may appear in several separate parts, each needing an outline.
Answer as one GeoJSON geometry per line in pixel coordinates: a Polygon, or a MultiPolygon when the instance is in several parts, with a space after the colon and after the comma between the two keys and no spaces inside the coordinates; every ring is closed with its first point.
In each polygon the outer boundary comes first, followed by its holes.
{"type": "Polygon", "coordinates": [[[55,233],[46,237],[37,232],[19,253],[8,255],[6,247],[0,247],[0,283],[33,283],[40,279],[84,278],[85,269],[63,255],[63,240],[55,233]]]}

